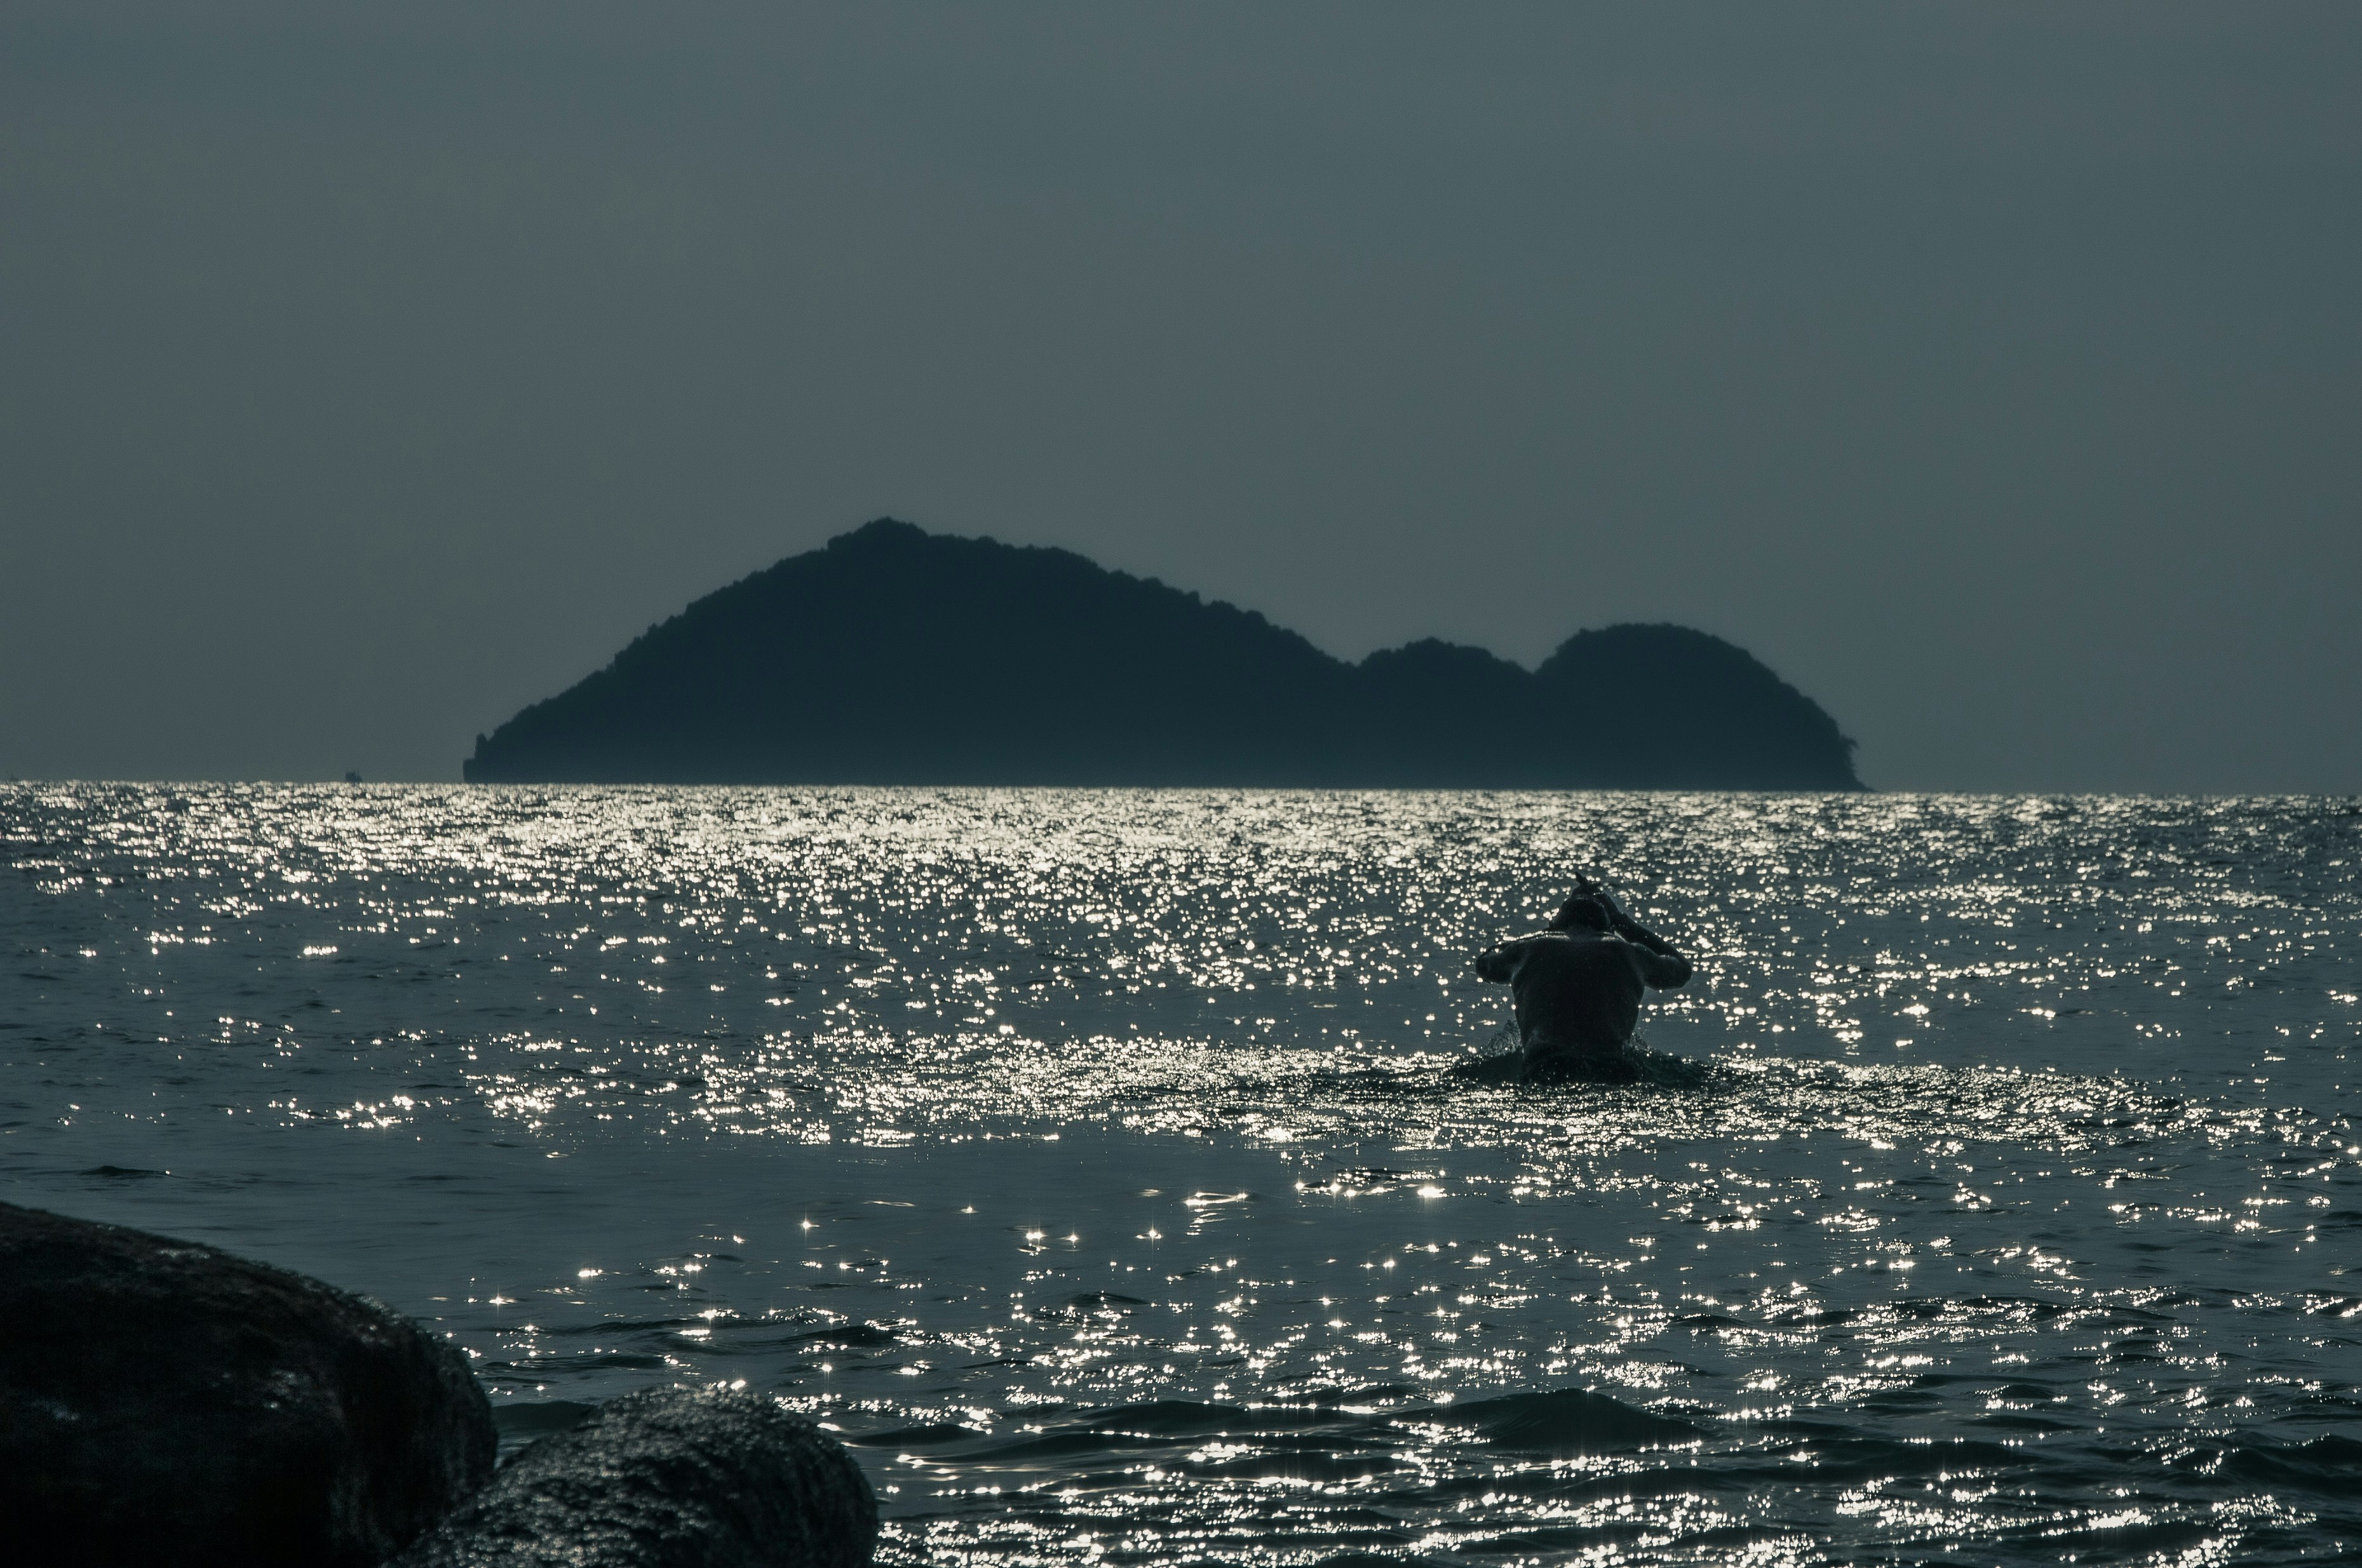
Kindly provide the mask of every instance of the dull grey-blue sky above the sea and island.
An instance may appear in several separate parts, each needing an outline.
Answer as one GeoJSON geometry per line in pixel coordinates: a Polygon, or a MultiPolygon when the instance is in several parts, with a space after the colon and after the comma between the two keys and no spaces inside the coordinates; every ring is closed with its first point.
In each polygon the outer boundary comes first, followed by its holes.
{"type": "Polygon", "coordinates": [[[2353,0],[12,0],[0,775],[456,779],[890,512],[2357,791],[2357,175],[2353,0]]]}

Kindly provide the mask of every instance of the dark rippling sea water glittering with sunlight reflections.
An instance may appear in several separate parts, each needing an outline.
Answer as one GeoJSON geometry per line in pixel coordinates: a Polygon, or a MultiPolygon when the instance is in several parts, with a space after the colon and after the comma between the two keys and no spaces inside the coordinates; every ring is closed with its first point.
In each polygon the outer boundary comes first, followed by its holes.
{"type": "Polygon", "coordinates": [[[888,1563],[2362,1559],[2362,803],[0,791],[0,1197],[888,1563]],[[1481,1089],[1601,871],[1656,1084],[1481,1089]]]}

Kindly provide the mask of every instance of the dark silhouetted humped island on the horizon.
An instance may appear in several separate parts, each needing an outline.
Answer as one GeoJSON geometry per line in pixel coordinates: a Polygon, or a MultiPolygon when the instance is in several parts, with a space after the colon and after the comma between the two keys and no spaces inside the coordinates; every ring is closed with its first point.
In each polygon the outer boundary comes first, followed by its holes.
{"type": "Polygon", "coordinates": [[[475,784],[1861,789],[1854,741],[1684,626],[1538,671],[1412,642],[1346,664],[1070,550],[879,520],[650,628],[477,737],[475,784]]]}

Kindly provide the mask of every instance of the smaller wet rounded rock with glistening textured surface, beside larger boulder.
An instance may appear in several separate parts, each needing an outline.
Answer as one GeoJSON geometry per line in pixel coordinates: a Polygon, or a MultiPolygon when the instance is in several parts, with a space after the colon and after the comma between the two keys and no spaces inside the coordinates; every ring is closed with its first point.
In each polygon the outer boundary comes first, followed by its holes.
{"type": "Polygon", "coordinates": [[[520,1452],[394,1568],[860,1568],[869,1481],[753,1393],[657,1389],[520,1452]]]}

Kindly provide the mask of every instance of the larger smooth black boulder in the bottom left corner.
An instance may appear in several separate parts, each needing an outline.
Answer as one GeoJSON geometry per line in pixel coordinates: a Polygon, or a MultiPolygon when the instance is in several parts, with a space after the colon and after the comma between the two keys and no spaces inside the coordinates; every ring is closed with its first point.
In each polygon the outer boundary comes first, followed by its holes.
{"type": "Polygon", "coordinates": [[[0,1204],[0,1521],[45,1566],[373,1568],[496,1443],[465,1358],[378,1301],[0,1204]]]}

